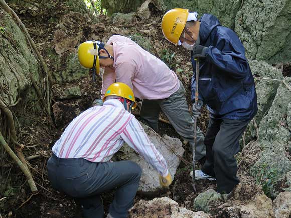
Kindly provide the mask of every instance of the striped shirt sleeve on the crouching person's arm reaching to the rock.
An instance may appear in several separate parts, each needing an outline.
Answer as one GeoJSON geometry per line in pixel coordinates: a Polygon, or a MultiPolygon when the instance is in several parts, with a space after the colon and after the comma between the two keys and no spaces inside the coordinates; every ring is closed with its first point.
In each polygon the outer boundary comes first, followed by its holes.
{"type": "Polygon", "coordinates": [[[169,171],[164,157],[150,141],[144,129],[135,118],[123,130],[121,137],[131,148],[143,156],[145,161],[156,169],[160,175],[163,177],[168,175],[169,171]]]}

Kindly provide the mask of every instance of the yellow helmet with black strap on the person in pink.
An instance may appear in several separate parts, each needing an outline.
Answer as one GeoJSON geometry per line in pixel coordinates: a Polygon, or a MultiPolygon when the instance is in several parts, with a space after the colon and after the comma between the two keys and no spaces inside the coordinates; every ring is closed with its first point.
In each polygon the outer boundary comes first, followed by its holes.
{"type": "Polygon", "coordinates": [[[81,43],[78,47],[78,58],[80,64],[89,69],[96,69],[96,73],[100,72],[98,49],[100,42],[90,40],[81,43]]]}

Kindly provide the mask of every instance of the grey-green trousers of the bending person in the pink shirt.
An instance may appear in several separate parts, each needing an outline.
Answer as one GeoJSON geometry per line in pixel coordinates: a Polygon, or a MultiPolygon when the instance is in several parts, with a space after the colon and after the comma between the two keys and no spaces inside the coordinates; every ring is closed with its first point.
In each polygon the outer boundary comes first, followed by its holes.
{"type": "MultiPolygon", "coordinates": [[[[147,121],[149,126],[157,131],[160,109],[167,116],[176,132],[184,140],[189,141],[191,148],[194,144],[194,121],[190,115],[186,97],[185,88],[180,82],[180,88],[170,97],[158,100],[142,100],[140,117],[147,121]]],[[[203,143],[204,135],[197,128],[196,159],[199,160],[205,156],[205,146],[203,143]]]]}

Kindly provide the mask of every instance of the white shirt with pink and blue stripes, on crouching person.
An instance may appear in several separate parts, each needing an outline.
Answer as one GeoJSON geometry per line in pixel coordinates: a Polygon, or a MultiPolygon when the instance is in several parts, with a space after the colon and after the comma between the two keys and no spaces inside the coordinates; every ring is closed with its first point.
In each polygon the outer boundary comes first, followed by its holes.
{"type": "Polygon", "coordinates": [[[77,116],[55,143],[52,152],[59,158],[84,158],[107,162],[126,142],[142,155],[162,176],[167,163],[151,143],[136,118],[117,99],[94,106],[77,116]]]}

